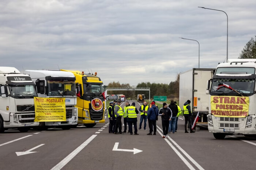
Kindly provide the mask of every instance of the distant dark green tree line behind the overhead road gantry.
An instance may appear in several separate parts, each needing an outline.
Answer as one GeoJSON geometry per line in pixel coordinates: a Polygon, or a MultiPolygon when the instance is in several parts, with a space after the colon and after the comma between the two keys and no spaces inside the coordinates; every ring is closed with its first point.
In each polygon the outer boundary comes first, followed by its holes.
{"type": "MultiPolygon", "coordinates": [[[[167,96],[167,98],[178,98],[179,96],[179,80],[180,74],[177,75],[176,80],[166,83],[150,83],[142,82],[139,83],[136,87],[146,87],[150,88],[150,98],[153,99],[154,96],[167,96]]],[[[106,86],[111,87],[121,87],[121,88],[132,88],[129,83],[120,84],[119,82],[111,82],[106,86]]],[[[149,91],[135,91],[135,90],[124,90],[124,91],[111,91],[108,90],[108,95],[111,94],[123,94],[126,98],[137,99],[138,94],[144,94],[146,99],[149,99],[149,91]]]]}

